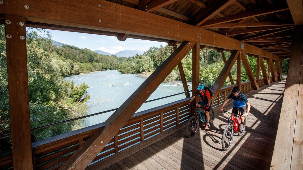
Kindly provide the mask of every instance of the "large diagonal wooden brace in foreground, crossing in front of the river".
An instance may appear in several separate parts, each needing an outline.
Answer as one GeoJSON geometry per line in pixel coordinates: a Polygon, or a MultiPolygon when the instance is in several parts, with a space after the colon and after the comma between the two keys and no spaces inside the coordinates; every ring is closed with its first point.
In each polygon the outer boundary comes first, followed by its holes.
{"type": "Polygon", "coordinates": [[[100,153],[115,133],[131,118],[148,97],[157,89],[169,73],[180,63],[188,51],[196,45],[183,42],[144,83],[105,121],[104,128],[96,132],[69,157],[59,169],[85,169],[100,153]]]}

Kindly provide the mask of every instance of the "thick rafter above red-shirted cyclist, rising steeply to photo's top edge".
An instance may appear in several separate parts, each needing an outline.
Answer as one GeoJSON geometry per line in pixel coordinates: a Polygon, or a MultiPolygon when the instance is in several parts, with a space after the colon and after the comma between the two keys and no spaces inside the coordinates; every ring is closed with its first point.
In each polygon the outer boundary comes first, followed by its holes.
{"type": "Polygon", "coordinates": [[[194,17],[195,25],[200,26],[234,1],[235,0],[211,1],[211,3],[208,4],[205,9],[200,9],[200,11],[197,12],[196,16],[194,17]]]}

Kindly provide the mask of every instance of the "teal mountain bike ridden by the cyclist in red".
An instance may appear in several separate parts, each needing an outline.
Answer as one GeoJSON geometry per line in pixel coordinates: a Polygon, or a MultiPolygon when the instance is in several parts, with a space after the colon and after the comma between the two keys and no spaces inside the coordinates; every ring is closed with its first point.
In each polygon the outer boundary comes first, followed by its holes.
{"type": "MultiPolygon", "coordinates": [[[[196,107],[195,105],[191,105],[191,107],[195,108],[194,116],[191,116],[186,123],[186,135],[191,138],[195,136],[198,131],[199,121],[201,123],[207,122],[207,117],[205,115],[205,107],[196,107]],[[201,111],[199,110],[201,108],[201,111]]],[[[209,110],[209,125],[211,125],[214,121],[214,110],[209,110]]]]}

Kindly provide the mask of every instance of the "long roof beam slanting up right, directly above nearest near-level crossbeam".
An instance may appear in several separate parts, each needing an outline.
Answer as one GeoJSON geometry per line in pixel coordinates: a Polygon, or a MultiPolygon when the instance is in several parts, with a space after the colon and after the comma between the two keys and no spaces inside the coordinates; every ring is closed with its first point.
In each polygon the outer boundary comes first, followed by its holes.
{"type": "Polygon", "coordinates": [[[238,14],[208,20],[208,21],[204,22],[203,24],[201,24],[200,26],[216,25],[216,24],[236,21],[239,19],[251,18],[251,17],[264,15],[264,14],[270,14],[270,13],[274,13],[274,12],[278,12],[278,11],[285,11],[288,9],[289,8],[286,5],[272,5],[270,8],[268,8],[268,6],[262,6],[261,8],[258,8],[258,9],[254,9],[254,10],[250,9],[248,11],[244,11],[244,12],[241,12],[238,14]]]}

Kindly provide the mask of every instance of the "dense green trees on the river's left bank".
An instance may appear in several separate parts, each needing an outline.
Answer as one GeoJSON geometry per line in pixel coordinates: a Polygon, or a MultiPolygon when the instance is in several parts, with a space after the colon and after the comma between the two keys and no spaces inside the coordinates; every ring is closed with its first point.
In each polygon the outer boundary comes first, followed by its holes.
{"type": "MultiPolygon", "coordinates": [[[[105,56],[75,46],[52,45],[51,34],[43,29],[27,30],[28,92],[31,128],[87,114],[90,98],[85,83],[63,80],[72,74],[115,70],[125,57],[105,56]]],[[[5,27],[0,26],[0,136],[10,134],[5,27]]],[[[83,120],[32,131],[32,141],[79,129],[83,120]]],[[[11,139],[0,139],[0,151],[11,147],[11,139]]]]}

